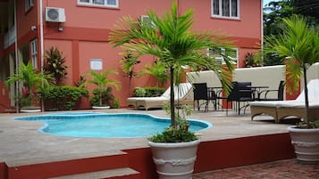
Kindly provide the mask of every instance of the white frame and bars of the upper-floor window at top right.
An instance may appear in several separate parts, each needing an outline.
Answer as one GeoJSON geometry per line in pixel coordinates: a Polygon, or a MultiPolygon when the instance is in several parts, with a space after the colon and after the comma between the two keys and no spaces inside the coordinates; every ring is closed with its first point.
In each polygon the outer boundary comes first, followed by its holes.
{"type": "MultiPolygon", "coordinates": [[[[240,0],[235,0],[236,3],[237,3],[237,8],[236,8],[236,11],[237,11],[237,16],[232,16],[232,1],[233,0],[228,0],[229,1],[229,8],[228,8],[228,11],[229,11],[229,16],[227,15],[223,15],[222,14],[222,1],[223,0],[211,0],[211,16],[214,17],[214,18],[226,18],[226,19],[234,19],[234,20],[239,20],[239,4],[240,4],[240,0]],[[218,1],[218,14],[214,14],[214,1],[218,1]]],[[[227,0],[226,0],[227,1],[227,0]]]]}

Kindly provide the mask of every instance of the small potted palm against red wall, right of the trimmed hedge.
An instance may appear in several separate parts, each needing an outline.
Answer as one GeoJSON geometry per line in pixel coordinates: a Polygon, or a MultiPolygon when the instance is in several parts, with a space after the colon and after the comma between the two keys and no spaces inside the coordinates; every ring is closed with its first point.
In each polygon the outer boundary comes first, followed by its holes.
{"type": "Polygon", "coordinates": [[[119,89],[119,85],[116,80],[107,77],[110,74],[117,74],[117,71],[106,69],[100,73],[96,71],[89,73],[89,76],[92,78],[88,79],[88,83],[97,85],[97,88],[93,90],[93,97],[90,101],[92,109],[109,109],[110,103],[114,101],[110,85],[113,85],[117,90],[119,89]]]}

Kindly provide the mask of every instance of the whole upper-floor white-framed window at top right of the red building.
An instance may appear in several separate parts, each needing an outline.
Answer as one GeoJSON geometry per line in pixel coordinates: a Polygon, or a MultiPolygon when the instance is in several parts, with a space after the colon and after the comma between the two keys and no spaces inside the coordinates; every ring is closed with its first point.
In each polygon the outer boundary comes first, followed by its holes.
{"type": "Polygon", "coordinates": [[[212,0],[212,16],[239,18],[239,0],[212,0]]]}

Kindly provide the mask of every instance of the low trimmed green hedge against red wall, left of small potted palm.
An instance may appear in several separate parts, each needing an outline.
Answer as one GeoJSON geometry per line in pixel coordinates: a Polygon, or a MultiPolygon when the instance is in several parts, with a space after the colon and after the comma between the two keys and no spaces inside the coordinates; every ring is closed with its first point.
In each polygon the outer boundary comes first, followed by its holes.
{"type": "Polygon", "coordinates": [[[88,90],[70,85],[56,85],[39,91],[47,103],[58,110],[73,110],[80,97],[88,97],[88,90]]]}

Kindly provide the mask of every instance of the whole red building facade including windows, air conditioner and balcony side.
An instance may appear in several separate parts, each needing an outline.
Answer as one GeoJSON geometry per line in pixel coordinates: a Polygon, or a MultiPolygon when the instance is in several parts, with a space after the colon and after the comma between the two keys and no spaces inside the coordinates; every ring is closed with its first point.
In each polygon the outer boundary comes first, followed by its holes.
{"type": "MultiPolygon", "coordinates": [[[[81,75],[92,69],[114,69],[110,76],[121,82],[113,90],[126,106],[129,78],[124,77],[120,60],[121,48],[108,44],[108,34],[122,16],[145,18],[147,10],[158,14],[169,11],[172,0],[0,0],[0,111],[14,106],[15,90],[7,90],[4,80],[13,75],[21,62],[32,62],[40,70],[43,56],[57,47],[66,59],[68,75],[63,85],[74,85],[81,75]]],[[[262,0],[177,0],[181,12],[195,10],[194,31],[215,31],[229,36],[236,47],[233,60],[237,67],[245,64],[245,55],[258,50],[262,43],[262,0]]],[[[136,70],[155,61],[140,59],[136,70]]],[[[132,80],[134,86],[155,85],[155,79],[143,76],[132,80]]],[[[11,87],[14,88],[14,87],[11,87]]],[[[131,94],[131,93],[130,93],[131,94]]],[[[88,108],[84,105],[83,108],[88,108]]]]}

